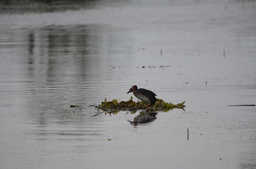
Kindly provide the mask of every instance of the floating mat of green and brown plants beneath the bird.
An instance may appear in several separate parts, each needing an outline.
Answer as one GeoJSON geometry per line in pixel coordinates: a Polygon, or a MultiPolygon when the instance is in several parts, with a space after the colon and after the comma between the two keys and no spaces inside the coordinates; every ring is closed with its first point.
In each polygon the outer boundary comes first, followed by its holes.
{"type": "MultiPolygon", "coordinates": [[[[133,97],[130,97],[130,100],[128,101],[120,101],[118,100],[112,100],[107,101],[107,98],[105,98],[105,101],[102,102],[99,106],[94,106],[96,108],[106,110],[106,111],[118,111],[118,110],[137,110],[137,109],[147,109],[147,110],[154,110],[154,111],[169,111],[174,108],[179,108],[185,111],[185,101],[183,103],[173,104],[173,103],[166,103],[162,99],[157,99],[156,103],[154,105],[149,106],[149,104],[143,102],[143,101],[133,101],[133,97]]],[[[93,106],[93,105],[90,105],[93,106]]]]}

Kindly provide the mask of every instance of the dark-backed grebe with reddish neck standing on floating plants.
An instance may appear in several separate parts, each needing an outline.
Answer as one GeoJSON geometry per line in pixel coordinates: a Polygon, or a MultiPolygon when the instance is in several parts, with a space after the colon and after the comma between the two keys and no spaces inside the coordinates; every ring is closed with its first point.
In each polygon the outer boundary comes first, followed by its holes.
{"type": "Polygon", "coordinates": [[[149,106],[156,103],[156,101],[157,101],[157,99],[155,97],[156,94],[154,94],[154,92],[147,90],[147,89],[138,89],[138,87],[136,85],[130,88],[128,93],[130,93],[130,92],[133,92],[134,96],[137,97],[138,99],[140,99],[146,103],[149,103],[149,106]]]}

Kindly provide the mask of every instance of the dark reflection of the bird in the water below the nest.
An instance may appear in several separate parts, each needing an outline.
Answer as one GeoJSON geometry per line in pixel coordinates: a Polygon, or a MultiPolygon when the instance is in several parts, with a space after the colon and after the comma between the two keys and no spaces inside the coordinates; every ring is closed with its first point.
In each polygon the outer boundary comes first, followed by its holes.
{"type": "Polygon", "coordinates": [[[130,124],[133,124],[133,126],[137,126],[140,124],[147,124],[154,122],[156,120],[156,112],[140,112],[139,115],[134,117],[133,121],[127,120],[130,122],[130,124]]]}

